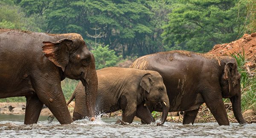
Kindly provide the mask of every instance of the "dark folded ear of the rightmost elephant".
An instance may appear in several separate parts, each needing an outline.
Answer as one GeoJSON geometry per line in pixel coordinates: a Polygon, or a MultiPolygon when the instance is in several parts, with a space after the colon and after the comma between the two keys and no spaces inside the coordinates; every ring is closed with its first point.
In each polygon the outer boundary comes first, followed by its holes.
{"type": "Polygon", "coordinates": [[[227,80],[229,92],[232,92],[233,87],[236,85],[236,68],[234,63],[227,63],[224,67],[223,79],[227,80]]]}

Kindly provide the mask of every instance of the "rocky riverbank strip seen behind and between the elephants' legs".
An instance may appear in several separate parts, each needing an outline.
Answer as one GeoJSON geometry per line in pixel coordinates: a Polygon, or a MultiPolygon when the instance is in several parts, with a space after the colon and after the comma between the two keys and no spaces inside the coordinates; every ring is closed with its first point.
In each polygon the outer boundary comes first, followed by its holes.
{"type": "MultiPolygon", "coordinates": [[[[71,102],[68,106],[70,114],[73,115],[73,108],[75,106],[75,102],[71,102]]],[[[231,103],[225,103],[225,107],[227,110],[227,116],[231,123],[237,123],[236,118],[234,117],[231,103]]],[[[0,114],[25,114],[26,111],[26,103],[24,102],[9,102],[9,103],[0,103],[0,114]]],[[[50,110],[44,106],[41,114],[44,116],[49,116],[52,113],[50,110]]],[[[122,116],[122,111],[116,111],[113,113],[105,114],[107,117],[119,117],[122,116]]],[[[160,112],[153,113],[154,118],[159,119],[161,117],[160,112]]],[[[249,109],[243,113],[243,117],[247,123],[256,123],[256,112],[252,109],[249,109]]],[[[182,122],[183,121],[183,112],[169,112],[169,116],[167,117],[168,122],[182,122]]],[[[205,104],[201,105],[197,118],[195,120],[197,123],[207,123],[207,122],[216,122],[213,115],[210,113],[209,109],[205,104]]]]}

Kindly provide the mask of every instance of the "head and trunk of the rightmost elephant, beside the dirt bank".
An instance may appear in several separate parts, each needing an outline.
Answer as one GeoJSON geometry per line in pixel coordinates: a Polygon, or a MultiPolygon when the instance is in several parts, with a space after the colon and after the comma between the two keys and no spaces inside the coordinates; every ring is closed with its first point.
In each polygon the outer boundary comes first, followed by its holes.
{"type": "Polygon", "coordinates": [[[225,57],[221,59],[223,65],[221,72],[221,94],[223,98],[230,98],[234,115],[239,123],[245,123],[241,114],[241,88],[237,62],[234,58],[225,57]]]}

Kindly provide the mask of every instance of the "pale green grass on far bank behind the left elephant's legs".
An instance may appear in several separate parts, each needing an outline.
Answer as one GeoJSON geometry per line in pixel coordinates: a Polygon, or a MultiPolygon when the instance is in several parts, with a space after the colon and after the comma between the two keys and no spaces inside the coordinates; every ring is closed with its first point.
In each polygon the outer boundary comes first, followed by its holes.
{"type": "MultiPolygon", "coordinates": [[[[78,82],[79,82],[79,80],[70,80],[68,78],[61,81],[61,88],[62,88],[62,91],[63,91],[66,101],[69,100],[73,91],[76,89],[76,85],[78,84],[78,82]]],[[[24,96],[23,97],[3,98],[3,99],[0,99],[0,102],[26,102],[26,98],[24,96]]]]}

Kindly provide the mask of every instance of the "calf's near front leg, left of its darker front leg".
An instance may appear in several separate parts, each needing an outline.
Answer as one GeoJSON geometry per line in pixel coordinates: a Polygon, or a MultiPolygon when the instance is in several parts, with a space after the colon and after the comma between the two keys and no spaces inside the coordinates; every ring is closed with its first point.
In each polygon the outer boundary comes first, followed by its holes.
{"type": "Polygon", "coordinates": [[[128,101],[125,96],[121,96],[120,105],[122,109],[122,121],[131,124],[136,115],[137,103],[128,101]]]}

